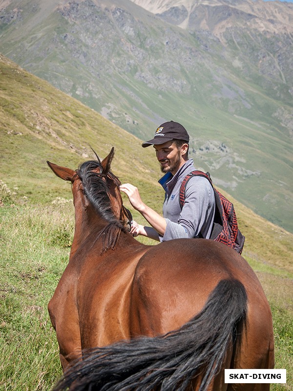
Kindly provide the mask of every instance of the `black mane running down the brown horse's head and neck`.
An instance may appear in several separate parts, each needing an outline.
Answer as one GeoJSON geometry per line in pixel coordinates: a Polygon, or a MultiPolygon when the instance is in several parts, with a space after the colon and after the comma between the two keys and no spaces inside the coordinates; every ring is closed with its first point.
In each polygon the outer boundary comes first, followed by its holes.
{"type": "Polygon", "coordinates": [[[89,160],[80,164],[76,173],[83,183],[84,194],[95,211],[108,223],[98,236],[100,237],[104,233],[108,234],[105,235],[104,248],[102,251],[106,251],[108,248],[114,248],[116,241],[119,239],[121,230],[126,232],[126,229],[113,213],[108,196],[109,189],[106,179],[107,177],[110,177],[117,185],[120,184],[119,179],[111,172],[103,173],[101,163],[96,160],[89,160]],[[93,172],[93,170],[96,169],[101,169],[101,174],[93,172]]]}

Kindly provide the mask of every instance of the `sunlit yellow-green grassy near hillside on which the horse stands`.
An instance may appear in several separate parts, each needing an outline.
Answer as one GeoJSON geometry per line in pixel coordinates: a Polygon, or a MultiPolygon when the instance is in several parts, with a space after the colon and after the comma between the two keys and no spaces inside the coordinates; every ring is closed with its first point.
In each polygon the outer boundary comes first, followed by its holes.
{"type": "MultiPolygon", "coordinates": [[[[6,357],[0,389],[49,390],[60,366],[46,305],[68,259],[73,207],[65,201],[71,198],[70,185],[45,161],[77,168],[93,156],[89,145],[101,157],[115,146],[113,172],[137,185],[159,212],[160,173],[152,150],[142,150],[140,140],[96,112],[4,58],[0,75],[0,179],[11,190],[0,182],[6,205],[0,208],[0,346],[6,357]],[[12,203],[16,206],[9,207],[12,203]]],[[[237,201],[234,205],[246,236],[243,255],[272,305],[276,368],[287,368],[292,376],[293,235],[237,201]]]]}

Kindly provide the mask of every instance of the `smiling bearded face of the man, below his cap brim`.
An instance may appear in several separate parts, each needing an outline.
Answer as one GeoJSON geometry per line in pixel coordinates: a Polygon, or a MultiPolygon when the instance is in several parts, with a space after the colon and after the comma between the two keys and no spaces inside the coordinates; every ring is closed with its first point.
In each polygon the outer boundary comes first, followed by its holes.
{"type": "Polygon", "coordinates": [[[178,149],[173,141],[167,141],[164,144],[154,145],[157,159],[161,166],[162,173],[177,173],[179,168],[185,162],[182,158],[181,149],[178,149]]]}

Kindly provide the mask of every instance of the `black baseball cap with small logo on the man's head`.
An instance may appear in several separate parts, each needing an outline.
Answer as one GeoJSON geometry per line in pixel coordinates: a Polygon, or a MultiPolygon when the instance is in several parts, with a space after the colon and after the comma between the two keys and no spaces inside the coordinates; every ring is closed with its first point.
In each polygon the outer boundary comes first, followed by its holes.
{"type": "Polygon", "coordinates": [[[164,144],[171,140],[184,140],[189,142],[189,135],[186,129],[178,122],[168,121],[160,125],[155,131],[155,136],[152,140],[146,141],[142,144],[143,148],[150,145],[164,144]]]}

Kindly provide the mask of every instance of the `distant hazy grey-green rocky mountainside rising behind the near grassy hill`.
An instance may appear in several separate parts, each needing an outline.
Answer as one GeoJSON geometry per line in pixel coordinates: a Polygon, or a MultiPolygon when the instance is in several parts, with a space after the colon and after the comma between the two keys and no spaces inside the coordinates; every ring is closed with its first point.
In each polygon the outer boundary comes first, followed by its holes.
{"type": "Polygon", "coordinates": [[[181,122],[216,185],[293,231],[292,21],[262,0],[4,0],[0,52],[141,139],[181,122]]]}

